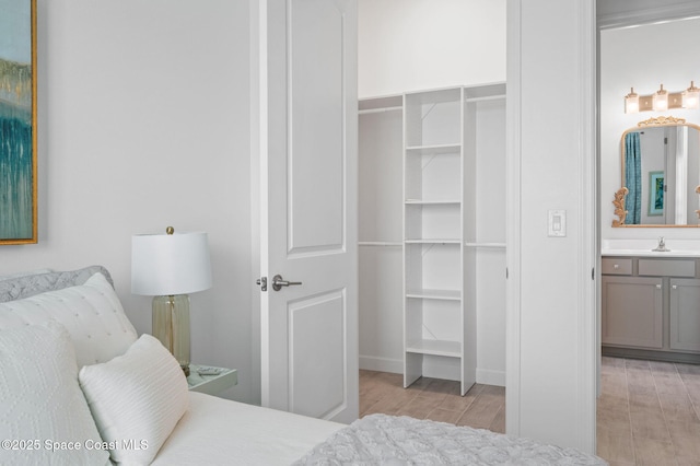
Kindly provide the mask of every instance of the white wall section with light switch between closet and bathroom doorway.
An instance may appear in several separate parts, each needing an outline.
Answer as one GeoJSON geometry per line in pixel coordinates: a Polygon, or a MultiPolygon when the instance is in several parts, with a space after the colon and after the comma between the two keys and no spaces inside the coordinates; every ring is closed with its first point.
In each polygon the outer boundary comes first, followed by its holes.
{"type": "Polygon", "coordinates": [[[593,0],[508,3],[506,432],[590,453],[597,328],[594,7],[593,0]],[[567,212],[567,236],[548,236],[550,209],[567,212]]]}

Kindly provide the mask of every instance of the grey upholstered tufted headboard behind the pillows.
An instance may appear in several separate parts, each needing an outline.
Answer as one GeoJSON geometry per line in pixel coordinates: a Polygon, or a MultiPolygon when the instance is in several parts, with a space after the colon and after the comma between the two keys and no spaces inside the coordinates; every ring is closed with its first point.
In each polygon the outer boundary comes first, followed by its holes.
{"type": "Polygon", "coordinates": [[[27,273],[5,279],[0,277],[0,303],[22,300],[46,291],[62,290],[63,288],[83,284],[96,272],[102,272],[114,287],[109,271],[103,266],[90,266],[70,271],[27,273]]]}

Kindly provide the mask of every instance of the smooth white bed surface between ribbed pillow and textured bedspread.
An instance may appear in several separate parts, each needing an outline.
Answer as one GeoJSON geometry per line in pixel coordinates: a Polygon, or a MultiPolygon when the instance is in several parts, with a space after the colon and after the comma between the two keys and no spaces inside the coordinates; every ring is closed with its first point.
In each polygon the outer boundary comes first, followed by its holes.
{"type": "Polygon", "coordinates": [[[153,465],[290,465],[345,424],[189,393],[153,465]]]}

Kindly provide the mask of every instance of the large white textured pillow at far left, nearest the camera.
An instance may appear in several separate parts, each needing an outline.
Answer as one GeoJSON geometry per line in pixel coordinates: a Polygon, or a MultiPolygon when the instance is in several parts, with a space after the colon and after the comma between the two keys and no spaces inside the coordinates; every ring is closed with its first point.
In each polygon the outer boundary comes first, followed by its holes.
{"type": "Polygon", "coordinates": [[[51,322],[0,330],[0,464],[108,463],[94,448],[102,439],[66,328],[51,322]]]}

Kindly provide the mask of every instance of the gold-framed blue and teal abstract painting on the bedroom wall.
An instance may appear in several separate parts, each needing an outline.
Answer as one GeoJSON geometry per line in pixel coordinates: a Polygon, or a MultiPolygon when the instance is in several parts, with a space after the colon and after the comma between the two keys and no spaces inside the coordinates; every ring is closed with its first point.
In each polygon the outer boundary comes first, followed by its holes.
{"type": "Polygon", "coordinates": [[[36,0],[0,0],[0,244],[37,242],[36,0]]]}

